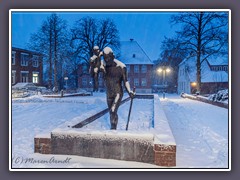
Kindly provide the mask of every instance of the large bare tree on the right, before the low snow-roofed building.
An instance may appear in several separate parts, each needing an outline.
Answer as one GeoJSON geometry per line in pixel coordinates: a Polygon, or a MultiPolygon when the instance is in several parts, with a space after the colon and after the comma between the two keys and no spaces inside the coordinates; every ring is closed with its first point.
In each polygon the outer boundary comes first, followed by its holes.
{"type": "Polygon", "coordinates": [[[197,91],[201,91],[201,64],[210,56],[228,51],[228,14],[225,12],[186,12],[173,15],[173,24],[181,24],[177,32],[179,50],[196,57],[197,91]]]}

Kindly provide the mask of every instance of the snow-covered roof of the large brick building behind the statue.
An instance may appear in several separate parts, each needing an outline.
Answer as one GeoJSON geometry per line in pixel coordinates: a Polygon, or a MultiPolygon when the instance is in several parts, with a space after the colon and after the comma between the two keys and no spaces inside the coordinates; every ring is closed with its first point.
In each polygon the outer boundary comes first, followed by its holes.
{"type": "Polygon", "coordinates": [[[131,39],[130,41],[121,41],[120,43],[121,55],[119,60],[124,64],[153,64],[137,41],[131,39]]]}

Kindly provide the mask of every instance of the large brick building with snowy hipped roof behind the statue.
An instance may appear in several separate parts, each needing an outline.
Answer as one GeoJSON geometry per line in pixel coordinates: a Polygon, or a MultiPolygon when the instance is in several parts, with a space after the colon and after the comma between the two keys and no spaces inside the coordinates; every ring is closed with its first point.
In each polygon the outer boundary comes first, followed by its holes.
{"type": "MultiPolygon", "coordinates": [[[[116,57],[119,61],[126,65],[128,72],[128,81],[131,88],[136,87],[136,92],[151,93],[152,92],[152,70],[153,63],[150,58],[140,47],[140,45],[130,39],[130,41],[121,41],[121,54],[116,57]]],[[[87,63],[79,66],[79,88],[92,90],[92,78],[88,72],[87,63]]],[[[99,90],[104,91],[105,85],[102,73],[99,77],[99,90]]]]}

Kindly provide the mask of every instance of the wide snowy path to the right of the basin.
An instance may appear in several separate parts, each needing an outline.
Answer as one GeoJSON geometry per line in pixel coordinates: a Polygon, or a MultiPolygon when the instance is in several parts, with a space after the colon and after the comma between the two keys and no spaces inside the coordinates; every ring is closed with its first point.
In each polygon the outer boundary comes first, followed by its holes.
{"type": "Polygon", "coordinates": [[[228,167],[228,110],[168,95],[161,99],[177,143],[177,167],[228,167]]]}

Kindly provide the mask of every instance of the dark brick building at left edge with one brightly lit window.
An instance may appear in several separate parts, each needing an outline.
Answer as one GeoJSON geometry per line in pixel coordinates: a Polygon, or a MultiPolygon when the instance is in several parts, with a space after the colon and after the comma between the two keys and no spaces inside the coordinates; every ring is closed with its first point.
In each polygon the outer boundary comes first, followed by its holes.
{"type": "Polygon", "coordinates": [[[12,85],[19,82],[43,83],[42,54],[12,47],[12,85]]]}

